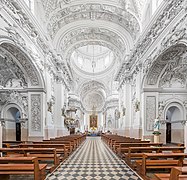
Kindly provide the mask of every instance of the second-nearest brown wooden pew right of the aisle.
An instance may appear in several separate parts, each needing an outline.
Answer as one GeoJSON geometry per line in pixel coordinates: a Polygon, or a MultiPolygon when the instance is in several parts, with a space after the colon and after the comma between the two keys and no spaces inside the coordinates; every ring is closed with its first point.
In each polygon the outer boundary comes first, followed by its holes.
{"type": "Polygon", "coordinates": [[[136,161],[137,171],[146,177],[147,169],[171,169],[182,166],[185,153],[144,153],[142,160],[136,161]]]}

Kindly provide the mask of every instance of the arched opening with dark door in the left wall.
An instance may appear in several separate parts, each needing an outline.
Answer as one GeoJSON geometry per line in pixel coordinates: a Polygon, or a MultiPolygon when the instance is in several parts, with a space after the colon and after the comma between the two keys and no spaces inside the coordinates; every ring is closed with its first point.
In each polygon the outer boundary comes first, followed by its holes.
{"type": "Polygon", "coordinates": [[[11,107],[6,112],[6,140],[21,141],[20,111],[11,107]]]}

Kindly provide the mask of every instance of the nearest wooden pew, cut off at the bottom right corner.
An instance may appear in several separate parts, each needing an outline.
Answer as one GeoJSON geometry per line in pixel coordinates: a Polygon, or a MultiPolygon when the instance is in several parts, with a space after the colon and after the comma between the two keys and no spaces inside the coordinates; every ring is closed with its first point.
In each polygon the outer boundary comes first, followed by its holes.
{"type": "Polygon", "coordinates": [[[154,174],[153,178],[154,180],[177,180],[179,179],[179,175],[185,175],[187,177],[187,167],[173,167],[170,174],[154,174]]]}

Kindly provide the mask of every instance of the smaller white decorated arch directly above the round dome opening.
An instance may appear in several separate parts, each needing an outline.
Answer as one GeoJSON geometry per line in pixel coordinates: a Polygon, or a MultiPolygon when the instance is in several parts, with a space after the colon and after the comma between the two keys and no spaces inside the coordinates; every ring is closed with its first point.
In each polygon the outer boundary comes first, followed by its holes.
{"type": "Polygon", "coordinates": [[[115,26],[110,27],[110,25],[105,23],[95,23],[92,24],[84,23],[78,24],[77,26],[72,25],[67,29],[62,29],[56,35],[53,40],[55,47],[58,52],[72,43],[76,43],[77,40],[84,39],[97,39],[104,41],[111,41],[111,43],[120,47],[121,51],[125,48],[129,52],[130,47],[133,46],[133,40],[130,38],[130,34],[127,31],[121,31],[121,29],[116,29],[115,26]],[[60,49],[61,48],[61,49],[60,49]]]}

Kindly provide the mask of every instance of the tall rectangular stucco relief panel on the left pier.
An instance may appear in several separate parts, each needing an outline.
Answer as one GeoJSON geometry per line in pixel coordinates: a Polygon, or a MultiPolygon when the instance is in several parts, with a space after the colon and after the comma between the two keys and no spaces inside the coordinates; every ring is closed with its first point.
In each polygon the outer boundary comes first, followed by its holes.
{"type": "Polygon", "coordinates": [[[41,132],[41,95],[31,95],[31,130],[41,132]]]}

